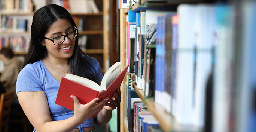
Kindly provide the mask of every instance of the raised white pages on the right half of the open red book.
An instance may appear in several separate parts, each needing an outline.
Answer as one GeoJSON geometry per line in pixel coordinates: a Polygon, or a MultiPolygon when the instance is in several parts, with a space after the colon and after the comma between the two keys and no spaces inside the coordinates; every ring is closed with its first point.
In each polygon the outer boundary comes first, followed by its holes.
{"type": "Polygon", "coordinates": [[[116,62],[104,74],[100,87],[106,90],[107,87],[118,77],[121,71],[121,62],[116,62]]]}

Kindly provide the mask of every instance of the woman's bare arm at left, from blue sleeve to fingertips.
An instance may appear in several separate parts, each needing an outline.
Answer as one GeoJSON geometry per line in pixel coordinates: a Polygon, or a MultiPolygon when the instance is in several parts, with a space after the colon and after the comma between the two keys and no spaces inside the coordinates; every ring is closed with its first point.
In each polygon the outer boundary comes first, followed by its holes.
{"type": "Polygon", "coordinates": [[[65,120],[52,121],[44,91],[18,92],[17,96],[23,111],[37,132],[70,132],[98,113],[108,100],[104,99],[96,103],[98,98],[95,98],[83,105],[79,103],[76,96],[70,96],[74,100],[74,116],[65,120]]]}

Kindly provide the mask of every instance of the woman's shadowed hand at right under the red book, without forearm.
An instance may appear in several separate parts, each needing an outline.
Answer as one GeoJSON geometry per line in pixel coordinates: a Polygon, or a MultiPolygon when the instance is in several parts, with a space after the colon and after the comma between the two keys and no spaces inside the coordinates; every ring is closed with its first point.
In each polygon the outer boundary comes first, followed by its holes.
{"type": "Polygon", "coordinates": [[[117,90],[116,93],[114,93],[114,96],[112,99],[109,99],[109,102],[104,106],[104,109],[106,110],[113,110],[116,109],[116,107],[120,104],[121,102],[121,91],[117,90]]]}

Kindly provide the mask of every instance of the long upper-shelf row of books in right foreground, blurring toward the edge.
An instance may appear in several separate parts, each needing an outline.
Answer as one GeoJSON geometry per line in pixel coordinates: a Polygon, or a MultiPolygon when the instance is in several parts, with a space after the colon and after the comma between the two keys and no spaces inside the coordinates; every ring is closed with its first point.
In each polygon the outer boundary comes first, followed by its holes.
{"type": "Polygon", "coordinates": [[[146,98],[154,97],[179,125],[210,125],[213,131],[253,128],[256,3],[234,5],[128,12],[127,82],[134,81],[146,98]]]}

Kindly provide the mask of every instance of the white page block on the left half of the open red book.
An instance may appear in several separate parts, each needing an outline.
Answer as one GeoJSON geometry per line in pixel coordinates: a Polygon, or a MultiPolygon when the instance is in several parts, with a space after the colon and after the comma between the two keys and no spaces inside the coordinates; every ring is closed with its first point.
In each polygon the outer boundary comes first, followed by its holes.
{"type": "Polygon", "coordinates": [[[97,83],[95,83],[94,81],[91,81],[87,78],[84,78],[84,77],[79,77],[77,75],[68,74],[65,76],[65,78],[67,78],[68,80],[74,81],[76,83],[82,84],[82,85],[89,87],[96,91],[102,90],[101,87],[97,83]]]}

